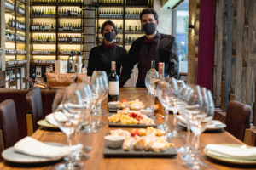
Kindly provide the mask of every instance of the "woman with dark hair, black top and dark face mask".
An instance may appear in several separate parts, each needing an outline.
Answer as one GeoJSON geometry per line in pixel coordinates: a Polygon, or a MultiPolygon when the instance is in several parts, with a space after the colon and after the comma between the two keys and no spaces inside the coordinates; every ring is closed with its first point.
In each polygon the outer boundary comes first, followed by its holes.
{"type": "Polygon", "coordinates": [[[87,75],[91,76],[93,71],[106,71],[107,75],[111,72],[111,61],[116,62],[116,73],[120,75],[120,69],[127,60],[125,48],[119,47],[114,43],[118,34],[116,26],[111,20],[102,24],[102,45],[90,50],[87,75]]]}

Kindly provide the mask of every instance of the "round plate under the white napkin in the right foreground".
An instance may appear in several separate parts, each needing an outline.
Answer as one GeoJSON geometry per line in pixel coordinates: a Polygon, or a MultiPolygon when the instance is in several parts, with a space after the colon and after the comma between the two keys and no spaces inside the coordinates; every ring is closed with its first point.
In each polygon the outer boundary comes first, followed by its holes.
{"type": "MultiPolygon", "coordinates": [[[[222,144],[222,145],[229,145],[234,147],[241,147],[240,144],[222,144]]],[[[256,160],[242,160],[242,159],[235,159],[235,158],[227,158],[222,156],[215,156],[207,151],[207,149],[204,149],[204,153],[206,156],[211,157],[212,159],[218,160],[218,161],[224,161],[227,163],[232,163],[236,165],[254,165],[256,164],[256,160]]]]}

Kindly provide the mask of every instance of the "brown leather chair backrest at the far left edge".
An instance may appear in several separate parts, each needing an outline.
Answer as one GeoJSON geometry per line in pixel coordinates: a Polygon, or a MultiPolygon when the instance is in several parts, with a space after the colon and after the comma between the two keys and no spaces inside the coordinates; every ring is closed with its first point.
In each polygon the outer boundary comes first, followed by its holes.
{"type": "Polygon", "coordinates": [[[3,133],[4,149],[13,146],[19,140],[15,102],[6,99],[0,104],[0,128],[3,133]]]}

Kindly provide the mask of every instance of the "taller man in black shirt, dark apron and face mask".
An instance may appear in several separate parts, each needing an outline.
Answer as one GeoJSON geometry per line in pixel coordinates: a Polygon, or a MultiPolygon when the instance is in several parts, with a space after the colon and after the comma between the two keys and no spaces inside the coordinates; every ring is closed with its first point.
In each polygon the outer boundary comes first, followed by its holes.
{"type": "Polygon", "coordinates": [[[131,77],[134,65],[137,64],[138,77],[136,86],[145,87],[145,77],[151,67],[151,60],[155,61],[155,68],[158,70],[158,63],[165,63],[165,76],[178,78],[178,57],[175,37],[161,34],[157,31],[159,25],[158,15],[153,8],[145,8],[140,14],[145,36],[137,38],[132,43],[128,53],[129,59],[125,62],[120,86],[131,77]]]}

